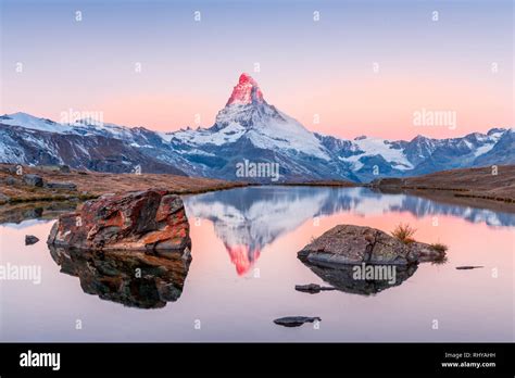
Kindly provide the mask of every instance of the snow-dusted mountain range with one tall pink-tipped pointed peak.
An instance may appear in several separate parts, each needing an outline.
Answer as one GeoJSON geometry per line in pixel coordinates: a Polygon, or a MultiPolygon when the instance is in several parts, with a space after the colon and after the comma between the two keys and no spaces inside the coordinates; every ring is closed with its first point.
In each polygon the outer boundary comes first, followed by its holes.
{"type": "Polygon", "coordinates": [[[209,128],[152,131],[89,119],[56,123],[26,113],[0,116],[0,162],[65,164],[98,172],[171,173],[241,177],[244,161],[278,164],[278,181],[415,176],[443,169],[515,164],[514,130],[492,128],[461,138],[411,141],[357,137],[353,140],[307,130],[268,104],[255,80],[242,74],[227,104],[209,128]]]}

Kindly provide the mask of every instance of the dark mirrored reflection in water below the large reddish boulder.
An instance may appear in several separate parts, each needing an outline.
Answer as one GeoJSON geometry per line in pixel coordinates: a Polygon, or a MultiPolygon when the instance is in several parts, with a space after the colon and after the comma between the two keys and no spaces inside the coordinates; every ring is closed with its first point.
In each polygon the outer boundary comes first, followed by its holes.
{"type": "Polygon", "coordinates": [[[138,308],[161,308],[177,301],[191,263],[189,248],[166,252],[49,249],[61,273],[78,277],[85,293],[138,308]]]}

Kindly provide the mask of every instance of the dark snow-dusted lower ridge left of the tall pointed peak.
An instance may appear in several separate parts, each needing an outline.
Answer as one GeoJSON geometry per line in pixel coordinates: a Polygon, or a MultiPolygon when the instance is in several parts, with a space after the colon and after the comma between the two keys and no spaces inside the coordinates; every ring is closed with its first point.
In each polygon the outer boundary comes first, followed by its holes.
{"type": "Polygon", "coordinates": [[[186,175],[177,164],[155,158],[154,151],[180,162],[180,156],[174,155],[168,143],[145,128],[66,125],[26,113],[0,116],[0,162],[3,163],[65,164],[97,172],[141,169],[186,175]]]}

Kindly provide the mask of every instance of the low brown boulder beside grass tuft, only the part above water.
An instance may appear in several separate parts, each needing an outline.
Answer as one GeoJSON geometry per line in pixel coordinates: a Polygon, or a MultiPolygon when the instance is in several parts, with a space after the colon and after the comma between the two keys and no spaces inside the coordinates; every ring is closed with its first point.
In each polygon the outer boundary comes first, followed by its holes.
{"type": "Polygon", "coordinates": [[[300,260],[325,265],[409,265],[443,255],[430,244],[417,241],[405,244],[379,229],[354,225],[336,226],[298,253],[300,260]]]}

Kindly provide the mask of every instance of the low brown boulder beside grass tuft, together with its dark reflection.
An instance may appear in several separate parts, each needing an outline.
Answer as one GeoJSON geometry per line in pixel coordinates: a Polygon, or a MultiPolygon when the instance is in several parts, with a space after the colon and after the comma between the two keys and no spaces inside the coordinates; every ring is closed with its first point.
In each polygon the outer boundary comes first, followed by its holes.
{"type": "Polygon", "coordinates": [[[299,260],[337,290],[370,295],[401,285],[417,264],[445,255],[420,242],[404,244],[370,227],[340,225],[298,253],[299,260]]]}

